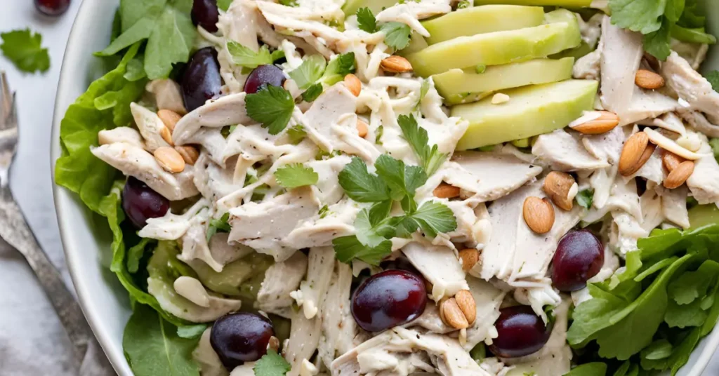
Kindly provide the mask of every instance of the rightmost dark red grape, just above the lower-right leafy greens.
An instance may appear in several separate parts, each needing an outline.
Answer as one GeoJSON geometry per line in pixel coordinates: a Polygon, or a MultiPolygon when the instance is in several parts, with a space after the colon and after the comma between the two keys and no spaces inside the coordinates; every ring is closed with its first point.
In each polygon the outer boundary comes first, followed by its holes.
{"type": "Polygon", "coordinates": [[[590,231],[572,231],[562,237],[552,260],[551,282],[560,291],[585,288],[604,265],[604,247],[590,231]]]}

